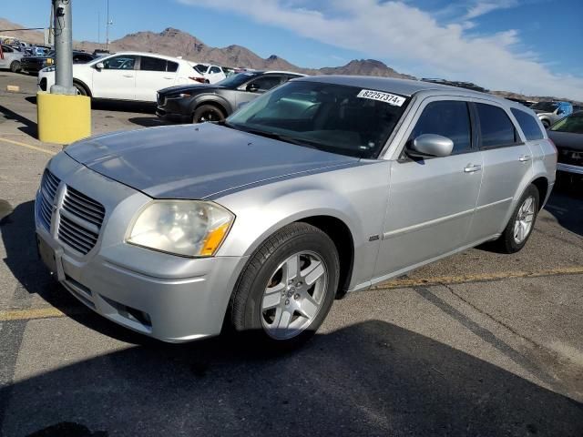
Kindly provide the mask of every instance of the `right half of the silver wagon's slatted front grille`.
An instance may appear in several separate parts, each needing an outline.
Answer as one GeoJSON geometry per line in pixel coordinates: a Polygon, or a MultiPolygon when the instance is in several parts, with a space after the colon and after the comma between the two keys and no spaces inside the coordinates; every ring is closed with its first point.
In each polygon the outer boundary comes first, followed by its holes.
{"type": "Polygon", "coordinates": [[[58,239],[86,255],[97,243],[105,215],[106,209],[97,200],[75,188],[66,187],[58,239]]]}

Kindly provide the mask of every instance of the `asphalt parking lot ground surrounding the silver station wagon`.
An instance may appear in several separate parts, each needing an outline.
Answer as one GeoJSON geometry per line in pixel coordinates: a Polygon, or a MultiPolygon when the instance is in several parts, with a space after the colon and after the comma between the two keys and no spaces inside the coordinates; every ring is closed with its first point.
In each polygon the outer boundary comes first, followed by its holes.
{"type": "MultiPolygon", "coordinates": [[[[0,436],[583,435],[583,189],[526,249],[472,249],[338,300],[284,356],[167,345],[89,312],[36,256],[36,77],[0,72],[0,436]],[[6,85],[21,91],[8,93],[6,85]]],[[[99,105],[94,133],[159,125],[99,105]]]]}

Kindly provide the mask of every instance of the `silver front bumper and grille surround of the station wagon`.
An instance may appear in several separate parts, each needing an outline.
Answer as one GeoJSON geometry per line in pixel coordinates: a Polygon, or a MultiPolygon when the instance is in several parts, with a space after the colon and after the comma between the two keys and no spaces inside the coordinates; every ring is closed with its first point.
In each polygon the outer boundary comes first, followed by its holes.
{"type": "Polygon", "coordinates": [[[133,212],[149,198],[59,154],[49,169],[61,182],[51,228],[35,221],[47,267],[77,300],[130,330],[169,342],[220,333],[231,290],[245,262],[241,257],[187,259],[124,243],[133,212]],[[106,217],[97,244],[87,255],[59,237],[59,198],[67,187],[97,198],[106,217]],[[133,212],[131,212],[133,211],[133,212]],[[125,228],[125,229],[124,229],[125,228]]]}

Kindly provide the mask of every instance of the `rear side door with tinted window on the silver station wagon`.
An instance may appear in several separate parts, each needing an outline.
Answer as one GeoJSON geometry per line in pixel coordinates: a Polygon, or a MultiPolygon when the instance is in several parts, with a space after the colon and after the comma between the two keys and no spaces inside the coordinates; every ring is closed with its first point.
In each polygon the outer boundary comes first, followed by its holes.
{"type": "Polygon", "coordinates": [[[471,104],[484,154],[484,176],[472,223],[471,239],[502,232],[513,205],[532,172],[532,152],[520,137],[506,108],[495,102],[471,104]]]}

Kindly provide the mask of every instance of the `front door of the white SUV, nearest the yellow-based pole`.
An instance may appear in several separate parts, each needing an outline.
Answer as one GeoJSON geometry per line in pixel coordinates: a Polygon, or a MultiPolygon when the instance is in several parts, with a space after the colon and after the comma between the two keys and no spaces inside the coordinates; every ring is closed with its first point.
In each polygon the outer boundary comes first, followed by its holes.
{"type": "Polygon", "coordinates": [[[103,68],[93,68],[93,97],[119,100],[136,99],[136,68],[138,56],[107,57],[103,68]]]}

